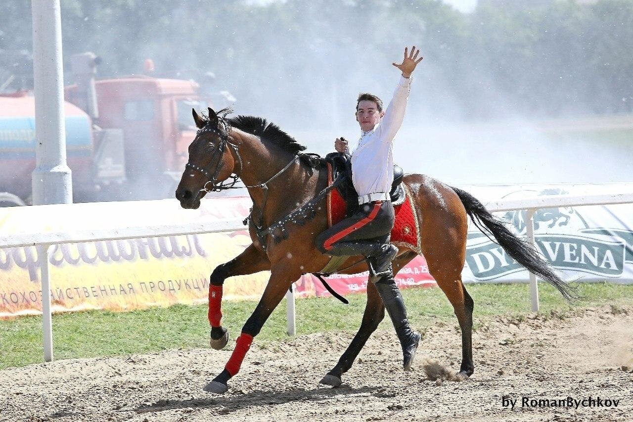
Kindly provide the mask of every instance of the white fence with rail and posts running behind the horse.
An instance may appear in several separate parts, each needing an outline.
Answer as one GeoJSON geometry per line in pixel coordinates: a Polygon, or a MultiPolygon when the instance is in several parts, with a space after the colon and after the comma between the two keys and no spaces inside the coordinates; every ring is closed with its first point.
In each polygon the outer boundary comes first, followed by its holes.
{"type": "MultiPolygon", "coordinates": [[[[173,200],[175,201],[175,200],[173,200]]],[[[633,203],[633,193],[611,194],[611,195],[558,195],[543,196],[524,200],[500,200],[486,203],[486,208],[491,212],[508,210],[527,210],[527,234],[534,244],[534,212],[539,208],[573,207],[586,205],[609,205],[633,203]]],[[[35,208],[45,210],[46,207],[77,207],[88,204],[68,204],[68,205],[39,205],[37,207],[23,207],[23,212],[33,212],[35,208]]],[[[99,204],[90,204],[98,207],[99,204]]],[[[125,206],[125,203],[108,203],[113,212],[117,207],[125,206]]],[[[59,209],[59,208],[58,208],[59,209]]],[[[15,210],[18,211],[18,210],[15,210]]],[[[46,215],[42,212],[40,215],[46,215]]],[[[97,224],[97,222],[95,223],[97,224]]],[[[14,248],[21,246],[36,246],[39,252],[39,259],[42,271],[42,314],[44,328],[44,360],[53,360],[53,325],[51,315],[51,280],[49,278],[49,247],[59,243],[79,243],[100,240],[123,240],[134,238],[149,238],[157,236],[179,236],[184,234],[205,234],[221,233],[226,231],[242,230],[244,226],[242,219],[225,219],[223,221],[210,221],[196,224],[173,224],[160,226],[135,226],[117,227],[116,229],[91,229],[64,231],[59,233],[20,233],[11,236],[0,236],[0,248],[14,248]]],[[[287,294],[287,316],[288,334],[295,333],[295,313],[294,295],[287,294]]],[[[539,292],[536,276],[530,274],[530,298],[532,310],[539,309],[539,292]]]]}

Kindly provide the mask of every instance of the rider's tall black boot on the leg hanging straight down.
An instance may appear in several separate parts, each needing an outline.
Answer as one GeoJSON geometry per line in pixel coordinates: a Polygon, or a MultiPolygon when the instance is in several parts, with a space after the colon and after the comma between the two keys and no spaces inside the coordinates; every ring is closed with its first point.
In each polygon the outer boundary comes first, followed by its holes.
{"type": "Polygon", "coordinates": [[[398,286],[396,286],[393,275],[391,277],[383,277],[374,285],[387,308],[387,313],[394,324],[394,328],[396,328],[396,334],[402,346],[404,370],[408,371],[411,369],[413,359],[415,359],[415,351],[418,348],[422,335],[417,331],[413,331],[409,325],[404,300],[398,290],[398,286]]]}

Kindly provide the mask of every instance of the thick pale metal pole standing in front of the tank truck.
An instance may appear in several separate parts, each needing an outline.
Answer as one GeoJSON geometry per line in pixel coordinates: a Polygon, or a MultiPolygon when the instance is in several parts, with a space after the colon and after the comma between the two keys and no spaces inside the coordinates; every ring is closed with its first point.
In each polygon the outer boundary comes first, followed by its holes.
{"type": "Polygon", "coordinates": [[[60,0],[32,0],[35,82],[33,204],[72,203],[66,165],[60,0]]]}

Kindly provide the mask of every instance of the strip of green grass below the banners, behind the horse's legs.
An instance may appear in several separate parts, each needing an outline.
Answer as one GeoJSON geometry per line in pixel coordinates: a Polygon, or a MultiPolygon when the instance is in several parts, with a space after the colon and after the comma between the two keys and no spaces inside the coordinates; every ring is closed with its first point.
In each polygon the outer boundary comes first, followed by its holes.
{"type": "MultiPolygon", "coordinates": [[[[475,319],[485,321],[497,315],[529,313],[527,285],[468,285],[475,300],[475,319]]],[[[568,312],[574,309],[558,291],[541,283],[541,312],[568,312]]],[[[575,307],[633,306],[633,286],[592,283],[580,285],[582,300],[575,307]]],[[[442,321],[457,324],[453,308],[439,288],[403,290],[410,319],[418,329],[442,321]]],[[[356,331],[365,308],[365,295],[350,295],[349,305],[334,298],[310,298],[296,302],[297,334],[323,331],[356,331]]],[[[224,302],[223,325],[232,338],[255,308],[256,302],[224,302]]],[[[285,300],[273,312],[256,342],[287,338],[285,300]]],[[[385,318],[380,328],[389,329],[385,318]]],[[[475,324],[475,329],[477,324],[475,324]]],[[[208,347],[205,306],[175,305],[115,313],[73,312],[53,316],[55,359],[149,353],[171,348],[208,347]]],[[[19,317],[0,321],[0,369],[42,362],[42,318],[19,317]]]]}

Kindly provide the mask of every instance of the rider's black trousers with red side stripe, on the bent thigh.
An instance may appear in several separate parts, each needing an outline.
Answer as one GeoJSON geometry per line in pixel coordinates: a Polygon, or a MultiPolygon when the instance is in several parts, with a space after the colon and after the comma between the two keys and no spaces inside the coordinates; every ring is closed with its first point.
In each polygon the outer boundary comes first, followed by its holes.
{"type": "MultiPolygon", "coordinates": [[[[336,255],[334,245],[354,241],[372,241],[375,243],[389,243],[389,234],[394,226],[394,207],[391,201],[373,201],[364,203],[351,217],[348,217],[316,236],[315,245],[318,250],[327,255],[336,255]]],[[[341,245],[342,246],[342,245],[341,245]]],[[[346,248],[345,248],[346,249],[346,248]]],[[[348,255],[346,250],[341,256],[348,255]]],[[[354,255],[354,254],[352,254],[354,255]]]]}

